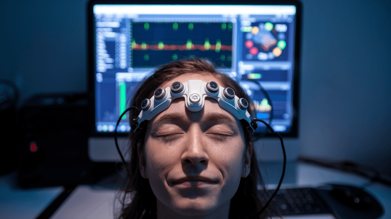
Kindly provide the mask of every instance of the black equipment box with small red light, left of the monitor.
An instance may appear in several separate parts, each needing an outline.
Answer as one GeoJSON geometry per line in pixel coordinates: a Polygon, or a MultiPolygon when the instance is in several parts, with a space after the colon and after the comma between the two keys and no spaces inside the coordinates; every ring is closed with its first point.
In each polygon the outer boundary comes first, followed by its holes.
{"type": "Polygon", "coordinates": [[[18,113],[21,187],[94,182],[87,94],[38,94],[18,113]]]}

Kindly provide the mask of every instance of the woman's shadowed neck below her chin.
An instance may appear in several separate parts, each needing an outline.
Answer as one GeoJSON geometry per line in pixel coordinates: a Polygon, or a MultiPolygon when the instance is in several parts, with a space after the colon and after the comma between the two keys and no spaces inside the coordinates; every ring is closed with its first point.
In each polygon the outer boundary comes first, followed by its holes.
{"type": "Polygon", "coordinates": [[[157,201],[157,219],[228,219],[230,215],[230,203],[229,201],[227,204],[222,205],[219,208],[208,210],[208,212],[205,214],[205,212],[201,212],[200,214],[180,214],[178,212],[175,212],[171,208],[165,206],[163,203],[161,203],[158,199],[157,201]],[[185,215],[186,214],[186,215],[185,215]]]}

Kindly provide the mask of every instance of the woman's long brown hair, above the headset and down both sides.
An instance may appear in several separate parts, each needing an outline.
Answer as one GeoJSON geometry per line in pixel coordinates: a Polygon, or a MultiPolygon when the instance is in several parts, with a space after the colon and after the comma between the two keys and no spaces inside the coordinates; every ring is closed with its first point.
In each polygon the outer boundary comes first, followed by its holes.
{"type": "MultiPolygon", "coordinates": [[[[145,79],[140,88],[135,92],[134,98],[131,101],[131,106],[140,107],[141,102],[145,98],[151,98],[153,92],[161,86],[161,84],[172,80],[186,73],[210,74],[218,78],[223,84],[223,87],[231,87],[239,98],[245,98],[249,102],[248,111],[254,117],[254,104],[248,97],[246,92],[240,85],[227,76],[215,69],[211,61],[200,58],[192,58],[170,62],[161,66],[150,77],[145,79]]],[[[138,116],[137,110],[129,112],[129,118],[132,123],[133,119],[138,116]]],[[[246,147],[253,144],[253,133],[249,133],[242,120],[242,127],[244,129],[246,147]]],[[[132,125],[132,124],[131,124],[132,125]]],[[[137,147],[140,150],[144,146],[145,129],[141,132],[130,132],[130,153],[131,160],[129,162],[129,172],[131,176],[127,179],[124,188],[124,195],[122,196],[122,209],[120,212],[120,219],[141,219],[141,218],[156,218],[156,196],[153,194],[149,185],[149,180],[145,179],[140,174],[139,160],[137,147]],[[131,203],[127,203],[127,199],[131,199],[131,203]]],[[[258,163],[255,152],[253,151],[251,157],[250,174],[246,178],[241,178],[239,188],[233,198],[231,199],[230,219],[249,218],[253,217],[262,208],[260,199],[257,196],[257,185],[259,182],[265,190],[264,183],[258,169],[258,163]]],[[[270,217],[270,211],[265,210],[259,218],[270,217]]]]}

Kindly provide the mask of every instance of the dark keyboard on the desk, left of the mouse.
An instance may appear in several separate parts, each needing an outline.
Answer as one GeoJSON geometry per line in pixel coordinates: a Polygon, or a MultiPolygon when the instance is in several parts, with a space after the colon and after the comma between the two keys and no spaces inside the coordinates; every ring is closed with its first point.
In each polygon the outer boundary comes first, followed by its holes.
{"type": "MultiPolygon", "coordinates": [[[[258,191],[260,200],[266,202],[274,191],[258,191]]],[[[273,200],[283,216],[332,213],[326,201],[313,188],[280,189],[273,200]]]]}

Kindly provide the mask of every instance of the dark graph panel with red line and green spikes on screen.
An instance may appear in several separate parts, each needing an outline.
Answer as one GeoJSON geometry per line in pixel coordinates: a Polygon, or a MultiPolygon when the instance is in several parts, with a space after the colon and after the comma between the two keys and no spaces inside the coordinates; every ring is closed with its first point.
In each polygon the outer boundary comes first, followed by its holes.
{"type": "Polygon", "coordinates": [[[204,57],[219,67],[231,67],[232,23],[133,22],[131,25],[132,68],[156,67],[185,57],[204,57]]]}

